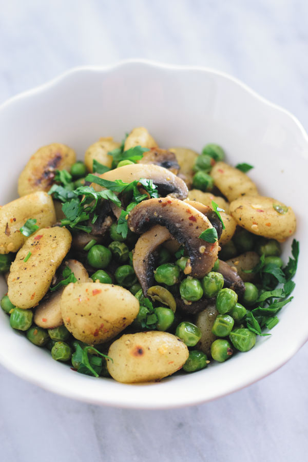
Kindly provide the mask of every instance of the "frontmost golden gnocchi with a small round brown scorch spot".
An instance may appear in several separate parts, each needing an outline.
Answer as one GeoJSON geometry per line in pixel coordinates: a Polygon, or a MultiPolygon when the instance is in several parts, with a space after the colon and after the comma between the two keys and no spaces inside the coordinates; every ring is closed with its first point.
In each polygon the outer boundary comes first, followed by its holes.
{"type": "Polygon", "coordinates": [[[188,354],[185,343],[167,332],[126,334],[111,344],[107,368],[118,382],[148,382],[181,369],[188,354]]]}

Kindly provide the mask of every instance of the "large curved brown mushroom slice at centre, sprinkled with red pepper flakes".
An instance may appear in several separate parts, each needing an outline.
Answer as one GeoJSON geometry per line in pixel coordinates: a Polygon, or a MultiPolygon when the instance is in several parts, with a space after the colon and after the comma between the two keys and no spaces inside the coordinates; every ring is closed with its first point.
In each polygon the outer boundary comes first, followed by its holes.
{"type": "Polygon", "coordinates": [[[219,245],[218,241],[209,243],[199,238],[203,231],[213,227],[199,210],[166,197],[143,201],[129,213],[128,226],[134,233],[142,234],[156,224],[165,226],[178,242],[185,245],[189,257],[185,274],[202,278],[213,268],[219,245]]]}

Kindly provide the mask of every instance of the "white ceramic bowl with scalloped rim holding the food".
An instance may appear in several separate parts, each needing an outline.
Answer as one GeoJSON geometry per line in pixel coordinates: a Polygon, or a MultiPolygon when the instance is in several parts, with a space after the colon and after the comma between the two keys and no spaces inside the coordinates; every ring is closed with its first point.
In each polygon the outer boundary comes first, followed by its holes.
{"type": "MultiPolygon", "coordinates": [[[[73,69],[0,107],[2,203],[17,197],[18,175],[38,147],[65,143],[83,159],[86,147],[100,137],[121,140],[126,131],[141,125],[162,147],[187,146],[200,151],[209,142],[222,145],[231,164],[255,166],[249,176],[262,194],[292,205],[300,241],[294,300],[279,313],[281,321],[273,335],[259,337],[250,352],[160,383],[127,385],[78,374],[13,331],[3,312],[0,362],[47,390],[99,405],[193,405],[239,390],[275,371],[308,338],[304,281],[308,138],[293,115],[221,72],[144,61],[73,69]]],[[[291,239],[284,244],[284,259],[290,247],[291,239]]]]}

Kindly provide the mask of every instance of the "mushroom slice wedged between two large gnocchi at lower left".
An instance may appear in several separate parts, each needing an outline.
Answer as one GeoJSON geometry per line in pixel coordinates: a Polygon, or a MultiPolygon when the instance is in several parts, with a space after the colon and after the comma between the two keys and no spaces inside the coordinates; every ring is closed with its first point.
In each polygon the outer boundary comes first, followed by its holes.
{"type": "MultiPolygon", "coordinates": [[[[65,264],[74,273],[78,283],[89,282],[88,272],[80,261],[68,260],[65,264]]],[[[56,292],[48,292],[43,300],[41,300],[34,313],[34,322],[36,325],[44,329],[53,329],[63,324],[60,300],[64,288],[61,287],[56,292]]]]}

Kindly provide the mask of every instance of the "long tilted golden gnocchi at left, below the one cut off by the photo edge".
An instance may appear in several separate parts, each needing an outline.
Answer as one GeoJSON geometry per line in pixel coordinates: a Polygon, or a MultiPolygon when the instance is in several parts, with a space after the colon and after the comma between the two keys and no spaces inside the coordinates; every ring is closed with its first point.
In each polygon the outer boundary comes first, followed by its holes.
{"type": "Polygon", "coordinates": [[[8,296],[15,306],[28,309],[42,300],[71,241],[70,232],[59,226],[40,229],[26,240],[8,278],[8,296]]]}

